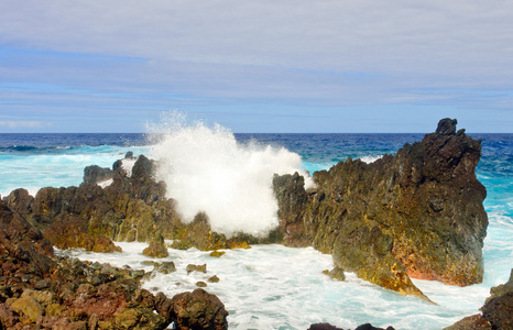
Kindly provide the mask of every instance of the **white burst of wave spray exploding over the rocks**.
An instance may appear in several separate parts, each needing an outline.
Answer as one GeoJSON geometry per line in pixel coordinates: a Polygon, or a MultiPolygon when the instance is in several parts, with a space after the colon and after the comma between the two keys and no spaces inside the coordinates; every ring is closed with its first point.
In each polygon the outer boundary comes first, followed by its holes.
{"type": "Polygon", "coordinates": [[[150,131],[156,179],[166,184],[184,221],[205,212],[211,229],[227,237],[239,231],[261,237],[277,227],[274,174],[299,172],[307,188],[314,185],[298,154],[254,141],[241,144],[219,124],[187,123],[185,114],[172,112],[150,131]]]}

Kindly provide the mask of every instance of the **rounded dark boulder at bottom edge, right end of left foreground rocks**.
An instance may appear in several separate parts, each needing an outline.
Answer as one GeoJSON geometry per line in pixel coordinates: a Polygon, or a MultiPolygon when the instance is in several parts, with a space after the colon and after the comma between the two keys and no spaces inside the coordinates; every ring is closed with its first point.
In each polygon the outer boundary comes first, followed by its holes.
{"type": "Polygon", "coordinates": [[[173,297],[173,319],[177,329],[228,329],[228,311],[215,295],[201,288],[173,297]]]}

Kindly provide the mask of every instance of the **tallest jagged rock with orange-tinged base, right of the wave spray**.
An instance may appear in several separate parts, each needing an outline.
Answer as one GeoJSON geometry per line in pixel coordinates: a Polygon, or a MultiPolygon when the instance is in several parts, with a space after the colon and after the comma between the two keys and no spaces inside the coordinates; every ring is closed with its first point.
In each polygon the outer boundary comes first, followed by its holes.
{"type": "Polygon", "coordinates": [[[312,244],[336,267],[406,295],[424,297],[410,277],[480,283],[488,226],[474,174],[480,154],[480,141],[444,119],[395,156],[314,173],[309,191],[298,175],[275,177],[283,241],[312,244]]]}

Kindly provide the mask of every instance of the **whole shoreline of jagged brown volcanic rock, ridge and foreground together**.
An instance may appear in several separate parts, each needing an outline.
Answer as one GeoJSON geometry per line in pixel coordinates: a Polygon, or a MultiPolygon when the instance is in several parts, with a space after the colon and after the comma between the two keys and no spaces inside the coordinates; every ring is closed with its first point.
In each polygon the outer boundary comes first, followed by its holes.
{"type": "MultiPolygon", "coordinates": [[[[474,174],[481,142],[456,131],[456,123],[441,120],[435,133],[396,156],[317,172],[314,189],[305,190],[297,173],[275,176],[280,227],[261,238],[212,232],[205,213],[186,224],[154,178],[157,164],[144,155],[129,153],[112,169],[88,166],[79,187],[47,187],[35,197],[14,190],[0,201],[0,329],[228,327],[225,306],[204,289],[153,295],[141,288],[141,271],[56,257],[52,246],[114,252],[113,241],[139,241],[149,243],[144,254],[162,257],[164,239],[175,249],[203,251],[281,243],[330,253],[335,278],[353,272],[426,300],[411,277],[480,283],[488,226],[487,193],[474,174]]],[[[490,315],[503,312],[483,311],[482,318],[494,324],[490,315]]]]}

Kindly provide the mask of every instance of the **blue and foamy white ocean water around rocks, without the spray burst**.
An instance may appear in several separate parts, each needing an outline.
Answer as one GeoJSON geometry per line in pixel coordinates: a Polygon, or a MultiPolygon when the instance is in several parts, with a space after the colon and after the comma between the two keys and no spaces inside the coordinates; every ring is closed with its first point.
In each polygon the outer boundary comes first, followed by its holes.
{"type": "MultiPolygon", "coordinates": [[[[394,154],[404,143],[421,141],[423,135],[234,134],[234,138],[241,145],[271,145],[296,153],[301,156],[302,167],[312,173],[327,169],[347,157],[372,162],[383,154],[394,154]]],[[[479,312],[490,287],[507,280],[513,267],[513,134],[470,135],[482,139],[477,176],[488,190],[484,207],[490,224],[483,249],[485,273],[482,284],[459,288],[415,280],[432,300],[439,304],[432,306],[383,290],[351,277],[351,274],[346,283],[326,279],[320,268],[329,268],[330,258],[313,250],[263,246],[251,252],[230,252],[233,255],[221,260],[223,264],[214,263],[212,267],[218,267],[216,272],[232,278],[233,283],[227,285],[225,282],[210,288],[230,310],[230,328],[306,329],[308,322],[327,321],[347,328],[372,322],[380,327],[392,324],[396,329],[441,329],[479,312]],[[294,261],[297,268],[290,261],[294,261]],[[287,272],[280,266],[283,263],[291,265],[285,267],[287,272]],[[242,295],[242,287],[254,292],[242,295]],[[315,300],[312,296],[316,296],[315,300]]],[[[135,155],[154,153],[144,134],[0,134],[0,195],[4,197],[19,187],[28,188],[34,195],[45,186],[79,185],[85,166],[110,167],[128,151],[135,155]]],[[[138,249],[137,244],[123,245],[123,253],[127,253],[123,260],[133,260],[133,266],[141,260],[138,249]]],[[[199,258],[200,262],[207,257],[198,251],[182,253],[173,252],[171,257],[175,262],[184,260],[184,263],[185,260],[199,258]]],[[[106,255],[78,255],[111,262],[106,255]]],[[[173,276],[179,276],[179,273],[173,276]]],[[[160,280],[156,278],[150,287],[159,287],[166,294],[189,289],[187,284],[176,288],[170,279],[160,280]]],[[[187,283],[184,278],[173,278],[172,282],[187,283]]]]}

